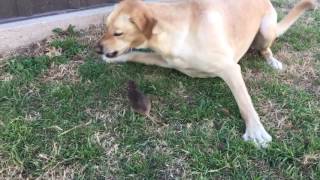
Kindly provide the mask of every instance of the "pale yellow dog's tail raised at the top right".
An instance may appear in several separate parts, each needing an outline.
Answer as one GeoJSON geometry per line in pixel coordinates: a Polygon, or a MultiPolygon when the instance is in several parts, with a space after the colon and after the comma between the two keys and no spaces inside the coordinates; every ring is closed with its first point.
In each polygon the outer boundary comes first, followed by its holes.
{"type": "Polygon", "coordinates": [[[306,11],[316,7],[317,0],[301,0],[289,14],[277,25],[277,37],[285,33],[290,26],[306,11]]]}

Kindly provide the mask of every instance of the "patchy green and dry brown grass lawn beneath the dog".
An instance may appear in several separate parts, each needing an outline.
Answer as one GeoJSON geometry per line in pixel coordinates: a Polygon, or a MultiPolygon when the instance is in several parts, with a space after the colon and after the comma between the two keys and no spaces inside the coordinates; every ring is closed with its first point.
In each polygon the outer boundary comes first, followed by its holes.
{"type": "Polygon", "coordinates": [[[309,13],[276,42],[285,72],[254,53],[241,62],[274,139],[262,150],[242,141],[243,120],[220,79],[104,64],[86,41],[91,34],[56,29],[46,43],[56,56],[1,66],[0,179],[319,179],[319,18],[309,13]],[[131,111],[130,79],[167,126],[131,111]]]}

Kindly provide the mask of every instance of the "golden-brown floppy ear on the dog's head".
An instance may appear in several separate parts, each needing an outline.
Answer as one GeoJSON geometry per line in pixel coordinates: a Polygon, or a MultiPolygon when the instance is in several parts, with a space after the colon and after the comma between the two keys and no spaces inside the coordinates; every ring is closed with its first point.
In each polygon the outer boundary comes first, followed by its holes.
{"type": "Polygon", "coordinates": [[[130,17],[130,21],[144,34],[147,39],[152,36],[152,31],[157,20],[152,16],[146,7],[137,8],[130,17]]]}

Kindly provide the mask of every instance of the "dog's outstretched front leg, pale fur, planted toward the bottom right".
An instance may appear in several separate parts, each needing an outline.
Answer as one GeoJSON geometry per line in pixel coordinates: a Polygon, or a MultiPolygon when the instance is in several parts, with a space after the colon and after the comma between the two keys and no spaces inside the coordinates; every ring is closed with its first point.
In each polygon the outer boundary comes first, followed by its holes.
{"type": "Polygon", "coordinates": [[[253,141],[259,147],[266,147],[272,138],[264,129],[253,107],[251,97],[242,78],[240,66],[238,64],[228,65],[225,71],[220,74],[220,77],[230,87],[240,108],[241,116],[245,120],[246,132],[243,139],[253,141]]]}

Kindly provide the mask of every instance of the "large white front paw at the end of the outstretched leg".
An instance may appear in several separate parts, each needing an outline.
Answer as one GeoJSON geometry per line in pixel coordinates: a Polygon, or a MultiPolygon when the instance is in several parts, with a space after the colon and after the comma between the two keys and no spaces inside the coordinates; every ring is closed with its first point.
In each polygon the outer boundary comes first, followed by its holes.
{"type": "Polygon", "coordinates": [[[268,147],[268,144],[272,141],[272,137],[262,125],[247,128],[246,133],[242,137],[245,141],[252,141],[259,148],[268,147]]]}

